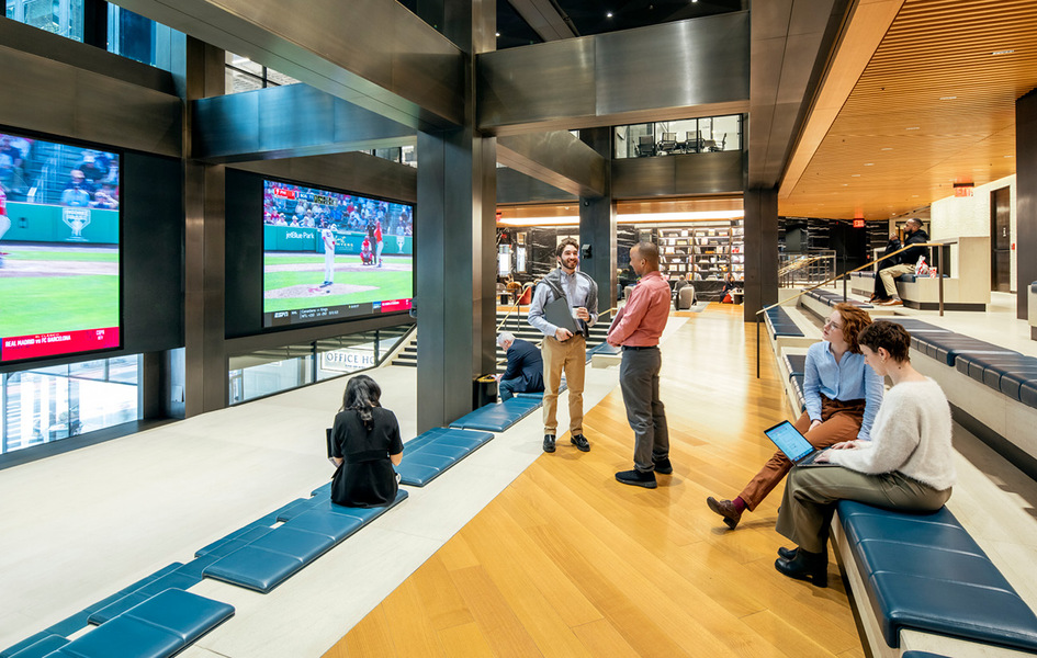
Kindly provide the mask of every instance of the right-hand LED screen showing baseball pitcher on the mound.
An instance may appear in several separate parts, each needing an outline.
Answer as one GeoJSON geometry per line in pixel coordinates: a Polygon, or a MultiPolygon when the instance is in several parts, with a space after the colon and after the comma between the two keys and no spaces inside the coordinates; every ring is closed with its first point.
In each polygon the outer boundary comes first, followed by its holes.
{"type": "Polygon", "coordinates": [[[414,206],[263,181],[263,327],[408,310],[414,206]]]}

